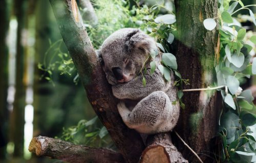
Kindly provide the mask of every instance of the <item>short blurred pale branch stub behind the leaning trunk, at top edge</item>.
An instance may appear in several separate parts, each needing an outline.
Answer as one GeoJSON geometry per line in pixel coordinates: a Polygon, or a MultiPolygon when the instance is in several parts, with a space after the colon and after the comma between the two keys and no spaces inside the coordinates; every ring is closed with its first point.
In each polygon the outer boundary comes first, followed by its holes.
{"type": "Polygon", "coordinates": [[[82,14],[84,21],[88,22],[92,26],[98,24],[98,17],[90,0],[78,0],[78,6],[80,6],[84,11],[82,14]]]}

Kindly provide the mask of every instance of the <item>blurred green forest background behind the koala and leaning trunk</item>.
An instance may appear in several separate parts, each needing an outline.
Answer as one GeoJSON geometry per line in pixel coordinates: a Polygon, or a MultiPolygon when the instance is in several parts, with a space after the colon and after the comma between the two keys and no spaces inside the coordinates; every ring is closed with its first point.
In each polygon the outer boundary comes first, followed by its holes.
{"type": "MultiPolygon", "coordinates": [[[[156,1],[92,3],[97,15],[93,22],[86,21],[88,10],[80,9],[97,49],[114,31],[140,27],[143,21],[134,16],[133,5],[150,7],[156,1]]],[[[174,11],[172,0],[157,3],[174,11]]],[[[239,21],[253,30],[247,17],[241,15],[239,21]]],[[[38,135],[115,149],[88,102],[49,1],[0,0],[0,55],[0,162],[61,162],[31,155],[29,143],[38,135]]],[[[252,81],[245,80],[244,88],[252,81]]]]}

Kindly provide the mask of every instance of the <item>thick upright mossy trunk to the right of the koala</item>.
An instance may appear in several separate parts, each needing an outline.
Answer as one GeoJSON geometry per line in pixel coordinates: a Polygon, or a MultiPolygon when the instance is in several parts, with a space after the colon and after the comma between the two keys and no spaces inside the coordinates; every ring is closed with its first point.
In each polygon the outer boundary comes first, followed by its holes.
{"type": "MultiPolygon", "coordinates": [[[[207,31],[203,20],[218,17],[218,1],[176,0],[175,6],[177,63],[182,77],[189,79],[190,84],[183,89],[206,88],[214,83],[219,43],[217,30],[207,31]]],[[[214,144],[211,141],[217,135],[220,108],[217,107],[216,92],[185,92],[182,100],[185,109],[181,110],[177,132],[204,162],[214,161],[214,144]]],[[[182,143],[178,149],[189,162],[197,162],[195,155],[182,143]]]]}

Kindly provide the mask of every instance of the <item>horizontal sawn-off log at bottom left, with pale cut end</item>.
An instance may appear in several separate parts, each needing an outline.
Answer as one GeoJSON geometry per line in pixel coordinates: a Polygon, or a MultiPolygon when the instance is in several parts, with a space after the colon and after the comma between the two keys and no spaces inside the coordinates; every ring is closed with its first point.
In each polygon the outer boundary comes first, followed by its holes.
{"type": "Polygon", "coordinates": [[[48,156],[67,162],[123,162],[123,157],[110,149],[92,148],[83,145],[74,145],[60,139],[48,137],[33,138],[29,145],[29,151],[37,156],[48,156]]]}

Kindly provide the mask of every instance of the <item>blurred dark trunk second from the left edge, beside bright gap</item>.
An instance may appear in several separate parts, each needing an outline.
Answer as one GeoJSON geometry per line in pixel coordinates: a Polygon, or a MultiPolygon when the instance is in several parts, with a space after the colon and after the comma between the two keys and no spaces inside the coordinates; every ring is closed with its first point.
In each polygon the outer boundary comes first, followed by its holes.
{"type": "Polygon", "coordinates": [[[23,157],[24,151],[24,111],[25,111],[25,25],[27,19],[27,1],[16,0],[14,12],[17,19],[16,77],[13,112],[11,115],[10,137],[14,142],[14,157],[23,157]]]}

